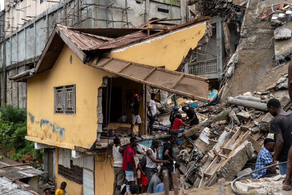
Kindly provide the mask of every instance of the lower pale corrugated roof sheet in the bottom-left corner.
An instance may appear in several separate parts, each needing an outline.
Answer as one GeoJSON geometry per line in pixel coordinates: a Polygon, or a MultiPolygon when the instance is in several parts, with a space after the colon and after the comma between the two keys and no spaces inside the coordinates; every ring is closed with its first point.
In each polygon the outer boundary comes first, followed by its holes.
{"type": "Polygon", "coordinates": [[[21,181],[12,182],[6,177],[0,177],[0,194],[42,195],[43,193],[21,181]]]}

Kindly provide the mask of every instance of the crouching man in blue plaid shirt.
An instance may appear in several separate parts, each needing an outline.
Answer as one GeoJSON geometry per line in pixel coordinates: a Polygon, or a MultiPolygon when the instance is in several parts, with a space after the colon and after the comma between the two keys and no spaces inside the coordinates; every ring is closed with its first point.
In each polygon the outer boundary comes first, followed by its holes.
{"type": "MultiPolygon", "coordinates": [[[[266,138],[264,140],[264,147],[258,153],[258,158],[256,159],[256,170],[260,168],[264,168],[268,165],[272,165],[273,158],[271,152],[275,150],[275,141],[271,138],[266,138]]],[[[277,172],[272,168],[267,168],[255,172],[253,174],[253,179],[258,179],[260,177],[272,177],[277,175],[277,172]]]]}

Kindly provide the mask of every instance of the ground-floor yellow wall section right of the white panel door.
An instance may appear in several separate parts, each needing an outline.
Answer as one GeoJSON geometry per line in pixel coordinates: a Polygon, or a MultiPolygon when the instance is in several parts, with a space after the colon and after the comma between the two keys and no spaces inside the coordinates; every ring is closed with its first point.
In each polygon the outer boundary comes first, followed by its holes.
{"type": "MultiPolygon", "coordinates": [[[[95,195],[107,195],[113,192],[114,170],[110,165],[110,159],[105,159],[105,156],[106,152],[94,156],[95,195]]],[[[114,164],[114,160],[112,160],[112,164],[114,164]]]]}

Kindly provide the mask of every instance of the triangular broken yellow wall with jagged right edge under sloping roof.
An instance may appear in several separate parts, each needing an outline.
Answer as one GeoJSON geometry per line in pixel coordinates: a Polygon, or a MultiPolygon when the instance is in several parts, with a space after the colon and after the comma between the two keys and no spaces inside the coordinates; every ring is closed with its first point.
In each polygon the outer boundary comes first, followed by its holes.
{"type": "Polygon", "coordinates": [[[204,36],[206,23],[154,37],[121,49],[112,50],[109,56],[152,66],[164,66],[176,70],[190,48],[197,47],[204,36]]]}

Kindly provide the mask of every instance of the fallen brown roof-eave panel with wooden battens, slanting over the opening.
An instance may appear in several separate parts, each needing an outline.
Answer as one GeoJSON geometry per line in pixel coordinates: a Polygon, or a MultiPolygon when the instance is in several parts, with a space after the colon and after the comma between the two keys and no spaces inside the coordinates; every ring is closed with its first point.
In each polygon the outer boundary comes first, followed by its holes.
{"type": "Polygon", "coordinates": [[[100,56],[98,62],[86,64],[135,82],[147,84],[199,101],[209,102],[208,79],[145,64],[133,63],[109,56],[100,56]],[[197,94],[197,95],[193,95],[197,94]]]}

